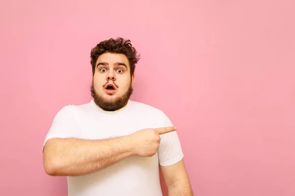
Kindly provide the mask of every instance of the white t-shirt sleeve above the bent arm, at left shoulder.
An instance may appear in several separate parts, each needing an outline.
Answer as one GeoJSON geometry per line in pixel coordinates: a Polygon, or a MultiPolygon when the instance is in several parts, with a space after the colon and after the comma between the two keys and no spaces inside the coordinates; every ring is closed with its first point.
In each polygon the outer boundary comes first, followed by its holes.
{"type": "MultiPolygon", "coordinates": [[[[43,148],[51,138],[79,138],[80,126],[77,112],[73,105],[64,106],[56,114],[45,137],[43,148]]],[[[42,150],[43,152],[43,150],[42,150]]]]}

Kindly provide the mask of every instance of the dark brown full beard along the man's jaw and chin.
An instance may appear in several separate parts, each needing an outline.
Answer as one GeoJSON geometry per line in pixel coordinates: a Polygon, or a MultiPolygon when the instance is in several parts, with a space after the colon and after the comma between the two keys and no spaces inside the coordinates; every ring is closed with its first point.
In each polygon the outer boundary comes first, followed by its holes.
{"type": "Polygon", "coordinates": [[[91,96],[94,99],[94,102],[97,106],[99,106],[101,109],[105,111],[113,112],[122,108],[127,103],[130,96],[132,95],[133,88],[130,82],[130,86],[127,92],[123,96],[118,98],[103,98],[101,95],[98,95],[96,91],[94,90],[93,80],[92,80],[90,91],[91,91],[91,96]]]}

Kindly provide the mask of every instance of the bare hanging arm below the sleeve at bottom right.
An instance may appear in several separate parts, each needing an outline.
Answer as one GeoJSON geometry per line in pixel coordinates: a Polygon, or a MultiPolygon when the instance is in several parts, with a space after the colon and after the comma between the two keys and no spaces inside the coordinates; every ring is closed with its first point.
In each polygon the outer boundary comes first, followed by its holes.
{"type": "Polygon", "coordinates": [[[160,166],[169,196],[193,196],[183,159],[171,166],[160,166]]]}

